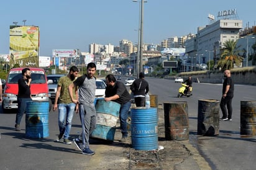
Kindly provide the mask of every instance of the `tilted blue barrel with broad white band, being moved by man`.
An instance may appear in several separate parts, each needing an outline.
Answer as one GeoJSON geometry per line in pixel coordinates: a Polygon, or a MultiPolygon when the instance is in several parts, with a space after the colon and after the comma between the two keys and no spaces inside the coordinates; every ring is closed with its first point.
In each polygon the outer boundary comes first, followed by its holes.
{"type": "Polygon", "coordinates": [[[117,102],[106,102],[104,99],[96,100],[96,128],[91,133],[92,138],[114,141],[116,123],[119,118],[121,105],[117,102]]]}

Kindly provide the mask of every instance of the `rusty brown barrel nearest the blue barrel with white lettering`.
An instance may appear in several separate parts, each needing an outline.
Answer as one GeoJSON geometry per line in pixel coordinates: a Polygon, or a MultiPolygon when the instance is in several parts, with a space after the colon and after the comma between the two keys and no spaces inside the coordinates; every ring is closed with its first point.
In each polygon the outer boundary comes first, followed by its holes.
{"type": "Polygon", "coordinates": [[[188,140],[187,102],[164,102],[165,140],[188,140]]]}

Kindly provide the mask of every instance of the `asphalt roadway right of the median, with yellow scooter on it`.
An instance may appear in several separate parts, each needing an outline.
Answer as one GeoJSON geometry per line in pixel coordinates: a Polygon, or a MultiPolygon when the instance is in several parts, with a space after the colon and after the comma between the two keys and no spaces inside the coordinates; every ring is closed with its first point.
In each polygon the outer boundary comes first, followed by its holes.
{"type": "MultiPolygon", "coordinates": [[[[193,96],[178,98],[180,83],[167,79],[146,79],[150,84],[150,94],[158,95],[159,104],[187,102],[190,143],[198,149],[212,169],[255,169],[256,137],[240,135],[240,101],[255,101],[256,86],[235,84],[232,122],[219,122],[219,135],[202,136],[197,135],[198,100],[220,100],[222,84],[193,83],[193,96]]],[[[254,112],[254,116],[255,114],[254,112]]],[[[222,117],[221,110],[219,115],[222,117]]]]}

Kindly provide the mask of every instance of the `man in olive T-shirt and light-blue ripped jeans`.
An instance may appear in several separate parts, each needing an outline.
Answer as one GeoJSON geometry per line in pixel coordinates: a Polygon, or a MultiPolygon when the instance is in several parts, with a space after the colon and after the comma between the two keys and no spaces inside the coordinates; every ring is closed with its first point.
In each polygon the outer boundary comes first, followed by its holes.
{"type": "MultiPolygon", "coordinates": [[[[68,137],[70,136],[71,122],[73,119],[74,111],[78,111],[76,104],[74,104],[70,99],[70,95],[68,94],[68,86],[70,86],[70,84],[75,80],[76,76],[78,76],[78,72],[79,70],[76,68],[76,66],[71,66],[68,75],[59,79],[53,105],[53,111],[55,111],[58,107],[58,128],[60,130],[60,134],[57,137],[57,141],[61,140],[62,136],[64,135],[63,143],[68,145],[71,144],[71,141],[68,140],[68,137]],[[57,105],[59,98],[60,103],[57,105]]],[[[78,99],[78,94],[75,89],[72,91],[72,96],[74,99],[78,99]]]]}

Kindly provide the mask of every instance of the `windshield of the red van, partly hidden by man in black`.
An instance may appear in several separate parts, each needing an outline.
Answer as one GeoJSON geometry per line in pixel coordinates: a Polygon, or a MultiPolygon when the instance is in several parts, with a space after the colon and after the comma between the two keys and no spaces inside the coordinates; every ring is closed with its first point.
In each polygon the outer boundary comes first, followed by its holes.
{"type": "MultiPolygon", "coordinates": [[[[8,83],[16,84],[20,78],[22,78],[21,73],[10,73],[7,81],[8,83]]],[[[45,75],[42,73],[31,73],[31,79],[31,84],[41,84],[46,82],[45,75]]]]}

